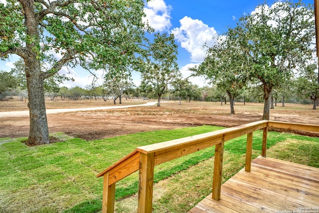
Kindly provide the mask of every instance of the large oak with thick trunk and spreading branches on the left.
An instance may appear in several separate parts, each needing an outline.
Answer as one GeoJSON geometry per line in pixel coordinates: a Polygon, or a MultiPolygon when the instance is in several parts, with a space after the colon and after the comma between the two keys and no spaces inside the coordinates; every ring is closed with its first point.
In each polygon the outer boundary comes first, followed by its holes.
{"type": "Polygon", "coordinates": [[[0,57],[23,58],[28,90],[28,143],[49,143],[43,81],[63,66],[139,70],[152,29],[144,0],[6,0],[0,3],[0,57]],[[47,70],[41,64],[46,63],[47,70]]]}

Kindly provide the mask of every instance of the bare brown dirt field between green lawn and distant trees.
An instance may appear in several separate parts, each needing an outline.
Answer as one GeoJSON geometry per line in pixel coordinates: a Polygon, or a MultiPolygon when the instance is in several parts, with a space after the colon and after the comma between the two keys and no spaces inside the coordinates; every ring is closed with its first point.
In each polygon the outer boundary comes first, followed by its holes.
{"type": "MultiPolygon", "coordinates": [[[[123,100],[122,105],[145,103],[142,101],[123,100]]],[[[18,99],[0,101],[0,111],[27,110],[27,103],[18,99]]],[[[113,101],[47,101],[47,109],[81,108],[112,106],[113,101]]],[[[119,104],[118,104],[119,105],[119,104]]],[[[236,103],[235,115],[229,114],[229,104],[207,102],[161,103],[161,107],[141,106],[122,109],[77,111],[60,114],[48,114],[49,132],[64,132],[85,140],[97,140],[137,132],[176,129],[198,125],[216,125],[232,127],[261,120],[263,104],[236,103]]],[[[319,110],[312,110],[311,105],[286,104],[271,110],[271,120],[294,123],[319,124],[319,110]]],[[[27,137],[29,118],[0,118],[0,138],[27,137]]],[[[318,136],[318,135],[313,135],[318,136]]]]}

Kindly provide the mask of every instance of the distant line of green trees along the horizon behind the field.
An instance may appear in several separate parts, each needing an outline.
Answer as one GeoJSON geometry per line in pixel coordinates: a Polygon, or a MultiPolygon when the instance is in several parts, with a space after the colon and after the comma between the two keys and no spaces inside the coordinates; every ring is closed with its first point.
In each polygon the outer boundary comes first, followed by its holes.
{"type": "MultiPolygon", "coordinates": [[[[0,71],[0,100],[6,100],[13,96],[18,96],[21,101],[27,97],[26,83],[23,75],[18,71],[21,61],[14,63],[15,68],[10,72],[0,71]],[[21,76],[21,77],[19,77],[21,76]]],[[[312,104],[312,91],[316,91],[316,83],[311,84],[309,79],[315,78],[316,73],[313,68],[308,67],[309,73],[313,73],[313,77],[299,76],[291,78],[285,87],[276,88],[272,91],[271,105],[285,106],[285,103],[301,103],[312,104]],[[313,85],[313,86],[312,86],[313,85]]],[[[23,72],[23,69],[20,69],[23,72]]],[[[102,85],[91,83],[85,88],[75,86],[67,88],[60,85],[60,79],[48,78],[44,82],[44,91],[50,100],[80,100],[80,99],[103,99],[104,101],[112,99],[114,104],[122,102],[125,99],[158,99],[156,90],[150,89],[142,82],[140,86],[135,86],[130,78],[106,79],[102,85]]],[[[238,95],[234,98],[234,103],[263,103],[263,88],[261,85],[245,85],[240,89],[238,95]]],[[[218,84],[212,86],[198,87],[192,84],[188,79],[182,79],[179,76],[171,79],[167,84],[167,89],[161,96],[161,100],[174,100],[179,104],[191,101],[220,102],[220,104],[229,104],[229,95],[224,88],[218,84]]]]}

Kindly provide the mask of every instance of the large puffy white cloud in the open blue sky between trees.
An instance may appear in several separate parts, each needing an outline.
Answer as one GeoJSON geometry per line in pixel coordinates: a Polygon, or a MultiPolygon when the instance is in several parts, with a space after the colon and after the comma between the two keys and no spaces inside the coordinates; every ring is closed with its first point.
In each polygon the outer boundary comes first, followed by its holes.
{"type": "Polygon", "coordinates": [[[203,45],[207,42],[208,46],[215,43],[217,31],[214,27],[209,27],[201,20],[183,17],[179,20],[180,27],[175,27],[171,32],[175,39],[180,42],[182,48],[190,53],[193,62],[201,62],[205,56],[203,45]]]}

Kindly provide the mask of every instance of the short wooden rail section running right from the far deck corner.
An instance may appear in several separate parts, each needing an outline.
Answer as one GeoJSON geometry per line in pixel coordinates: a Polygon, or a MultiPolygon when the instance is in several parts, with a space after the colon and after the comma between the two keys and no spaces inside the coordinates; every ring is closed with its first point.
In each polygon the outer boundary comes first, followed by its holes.
{"type": "Polygon", "coordinates": [[[319,132],[319,125],[314,125],[314,124],[300,124],[300,123],[269,121],[268,127],[288,129],[288,130],[319,132]]]}

